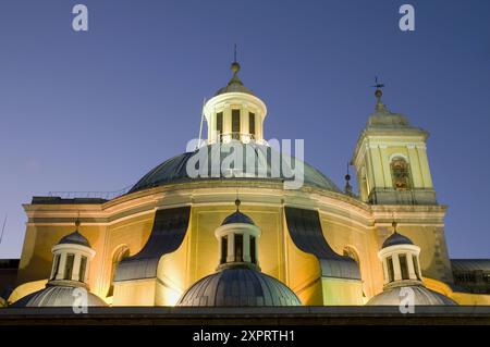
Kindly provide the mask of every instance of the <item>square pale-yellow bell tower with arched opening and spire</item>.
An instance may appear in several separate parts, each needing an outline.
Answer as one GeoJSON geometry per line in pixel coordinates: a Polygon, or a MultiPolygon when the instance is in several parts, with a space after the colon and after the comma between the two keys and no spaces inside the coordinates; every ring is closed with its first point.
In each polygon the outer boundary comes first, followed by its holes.
{"type": "Polygon", "coordinates": [[[437,205],[427,159],[429,134],[392,113],[376,84],[375,113],[360,133],[351,163],[360,199],[372,205],[437,205]]]}

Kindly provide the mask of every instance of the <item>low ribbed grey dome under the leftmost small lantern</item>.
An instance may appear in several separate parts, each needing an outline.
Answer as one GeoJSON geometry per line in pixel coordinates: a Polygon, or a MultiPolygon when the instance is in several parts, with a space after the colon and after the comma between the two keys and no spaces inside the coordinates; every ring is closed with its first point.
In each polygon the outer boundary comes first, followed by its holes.
{"type": "MultiPolygon", "coordinates": [[[[13,307],[73,307],[79,306],[75,302],[78,296],[74,295],[72,286],[47,286],[46,288],[32,293],[14,302],[13,307]]],[[[106,302],[95,294],[88,292],[88,306],[107,306],[106,302]]]]}

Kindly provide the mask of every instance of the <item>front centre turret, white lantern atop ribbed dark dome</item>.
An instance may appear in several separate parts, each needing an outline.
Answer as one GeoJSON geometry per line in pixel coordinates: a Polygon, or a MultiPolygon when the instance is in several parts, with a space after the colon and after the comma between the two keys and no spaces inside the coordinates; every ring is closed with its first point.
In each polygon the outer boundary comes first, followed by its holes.
{"type": "Polygon", "coordinates": [[[219,239],[220,264],[215,274],[192,285],[177,306],[301,306],[286,285],[260,272],[257,239],[260,230],[253,220],[236,211],[215,232],[219,239]]]}

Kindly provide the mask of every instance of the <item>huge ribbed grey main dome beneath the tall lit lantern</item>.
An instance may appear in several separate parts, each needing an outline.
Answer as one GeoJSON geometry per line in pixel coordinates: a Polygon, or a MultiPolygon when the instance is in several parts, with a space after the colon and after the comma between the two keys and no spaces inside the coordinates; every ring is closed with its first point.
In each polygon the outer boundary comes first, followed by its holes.
{"type": "MultiPolygon", "coordinates": [[[[295,162],[299,162],[298,159],[295,159],[294,157],[287,156],[285,153],[279,153],[278,151],[274,151],[272,148],[268,146],[262,145],[256,145],[256,144],[242,144],[238,141],[233,141],[230,144],[221,144],[221,150],[220,150],[220,168],[223,160],[226,159],[226,157],[230,156],[230,153],[234,150],[234,146],[242,146],[243,147],[243,165],[242,168],[246,168],[246,163],[255,163],[255,174],[250,175],[247,172],[240,172],[237,169],[233,170],[233,177],[230,177],[232,179],[267,179],[267,181],[279,181],[282,182],[283,179],[291,179],[287,173],[284,172],[282,165],[279,165],[280,174],[277,175],[278,177],[274,177],[273,171],[271,170],[271,162],[273,161],[273,156],[281,156],[283,158],[284,162],[290,162],[293,168],[295,168],[295,162]],[[272,152],[274,151],[274,152],[272,152]],[[266,173],[266,176],[258,176],[257,173],[264,172],[266,173]]],[[[204,147],[204,150],[208,150],[208,158],[211,158],[211,148],[217,148],[212,145],[204,147]]],[[[203,150],[201,149],[201,150],[203,150]]],[[[226,179],[229,173],[223,172],[212,172],[211,171],[211,164],[210,161],[207,161],[207,166],[209,168],[209,173],[212,174],[209,175],[211,177],[201,177],[198,176],[196,178],[192,178],[187,175],[186,166],[187,162],[191,158],[194,156],[197,156],[199,152],[186,152],[176,157],[173,157],[160,165],[152,169],[150,172],[148,172],[139,182],[131,188],[128,193],[139,191],[144,189],[148,189],[151,187],[157,187],[166,184],[172,184],[172,183],[181,183],[181,182],[188,182],[188,181],[203,181],[203,179],[226,179]]],[[[217,154],[218,156],[218,154],[217,154]]],[[[319,188],[323,188],[331,191],[340,193],[340,189],[335,186],[335,184],[327,178],[321,172],[313,168],[311,165],[304,163],[304,184],[308,186],[315,186],[319,188]]]]}

